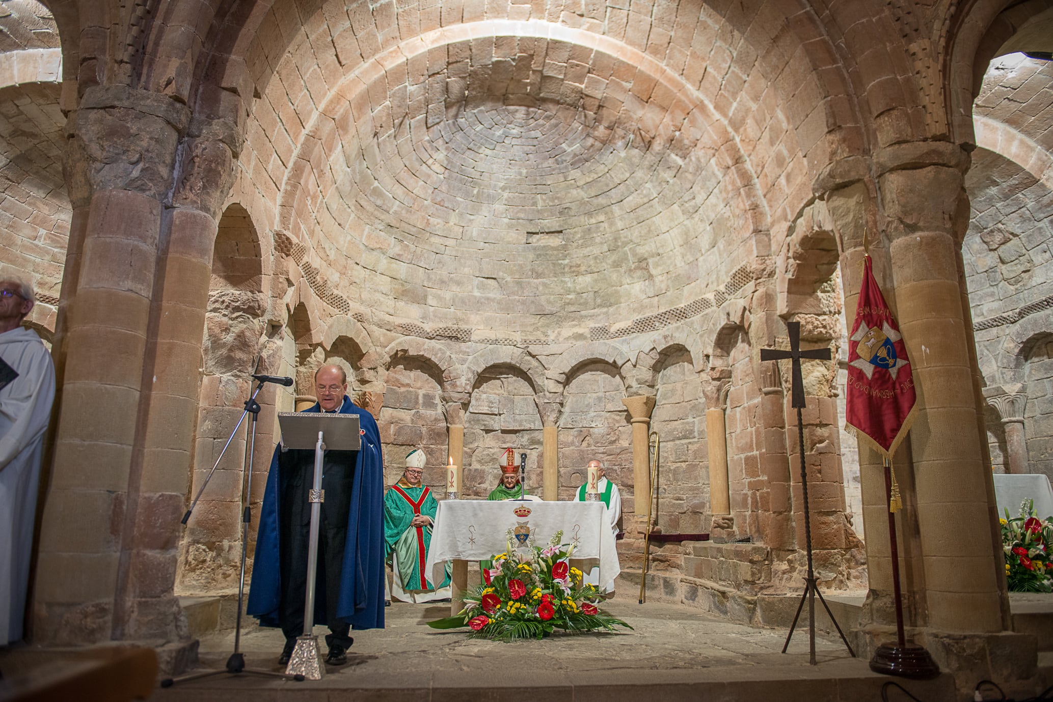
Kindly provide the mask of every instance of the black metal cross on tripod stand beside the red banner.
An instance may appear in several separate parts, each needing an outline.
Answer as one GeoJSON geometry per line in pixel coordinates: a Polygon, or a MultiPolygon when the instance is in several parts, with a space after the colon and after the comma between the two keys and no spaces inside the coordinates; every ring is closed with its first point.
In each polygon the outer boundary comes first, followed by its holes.
{"type": "Polygon", "coordinates": [[[797,447],[800,450],[800,486],[804,496],[804,549],[808,554],[808,577],[804,578],[804,591],[800,596],[800,604],[797,605],[797,614],[794,615],[793,624],[790,625],[790,633],[787,634],[787,641],[782,644],[782,653],[787,653],[787,647],[790,645],[790,639],[793,637],[793,630],[797,627],[797,620],[800,618],[800,610],[804,606],[804,600],[808,600],[809,662],[812,665],[815,665],[816,595],[819,596],[819,602],[821,602],[822,606],[826,607],[827,615],[830,617],[830,621],[834,623],[834,627],[840,635],[841,641],[845,642],[845,646],[849,649],[849,654],[855,658],[855,651],[852,650],[852,646],[849,644],[848,639],[845,638],[845,634],[841,631],[840,625],[838,625],[837,620],[834,619],[834,614],[830,611],[827,601],[822,599],[822,593],[819,591],[819,588],[815,584],[815,570],[812,567],[812,524],[808,508],[808,472],[804,467],[804,424],[801,419],[801,409],[804,408],[804,380],[800,374],[800,361],[806,358],[829,361],[830,349],[812,348],[809,350],[801,350],[800,322],[787,322],[787,330],[790,333],[790,350],[779,350],[777,348],[760,349],[761,361],[781,361],[789,359],[791,366],[793,367],[793,380],[790,388],[792,404],[797,409],[797,447]]]}

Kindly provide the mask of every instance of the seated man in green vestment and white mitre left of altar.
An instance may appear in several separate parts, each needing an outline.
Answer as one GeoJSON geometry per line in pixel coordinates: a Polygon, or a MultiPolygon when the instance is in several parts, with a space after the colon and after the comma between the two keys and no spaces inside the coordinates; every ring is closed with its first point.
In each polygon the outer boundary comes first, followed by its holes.
{"type": "Polygon", "coordinates": [[[433,602],[450,597],[450,566],[442,582],[428,579],[424,564],[432,544],[432,526],[439,503],[421,482],[424,452],[405,457],[405,472],[384,495],[384,545],[392,564],[392,598],[401,602],[433,602]]]}

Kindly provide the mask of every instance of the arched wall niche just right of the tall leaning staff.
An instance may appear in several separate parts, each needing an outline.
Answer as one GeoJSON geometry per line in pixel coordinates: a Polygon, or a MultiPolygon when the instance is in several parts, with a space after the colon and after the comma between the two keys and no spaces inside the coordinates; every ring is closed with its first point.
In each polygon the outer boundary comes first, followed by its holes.
{"type": "Polygon", "coordinates": [[[658,433],[658,526],[667,534],[709,531],[706,399],[691,353],[674,347],[655,367],[651,428],[658,433]]]}

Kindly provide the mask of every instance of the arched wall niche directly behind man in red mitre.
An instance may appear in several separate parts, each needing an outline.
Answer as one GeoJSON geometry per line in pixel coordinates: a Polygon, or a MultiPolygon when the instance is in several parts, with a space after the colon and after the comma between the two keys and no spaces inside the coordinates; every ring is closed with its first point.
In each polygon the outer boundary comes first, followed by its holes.
{"type": "Polygon", "coordinates": [[[479,374],[464,415],[464,477],[470,497],[486,497],[500,480],[501,453],[512,447],[516,463],[526,453],[526,489],[541,494],[541,416],[530,377],[512,366],[479,374]]]}

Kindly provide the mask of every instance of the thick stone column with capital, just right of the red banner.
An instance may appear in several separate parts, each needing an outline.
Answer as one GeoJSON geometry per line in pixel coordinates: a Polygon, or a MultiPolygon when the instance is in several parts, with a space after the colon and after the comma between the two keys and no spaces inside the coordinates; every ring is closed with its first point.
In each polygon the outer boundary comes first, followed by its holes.
{"type": "Polygon", "coordinates": [[[911,448],[929,626],[999,631],[1001,558],[991,538],[991,477],[975,428],[956,263],[956,235],[969,217],[968,157],[956,145],[925,142],[887,147],[875,160],[899,325],[922,413],[911,448]]]}

